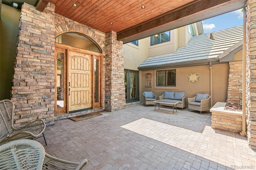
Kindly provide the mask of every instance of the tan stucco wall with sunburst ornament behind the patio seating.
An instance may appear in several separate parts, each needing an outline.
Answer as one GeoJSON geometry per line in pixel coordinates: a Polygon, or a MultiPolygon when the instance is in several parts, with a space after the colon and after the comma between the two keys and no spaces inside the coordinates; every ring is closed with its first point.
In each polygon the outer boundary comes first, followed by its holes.
{"type": "MultiPolygon", "coordinates": [[[[174,68],[172,68],[174,69],[174,68]]],[[[141,91],[140,91],[140,102],[143,102],[142,96],[143,91],[153,91],[159,96],[164,91],[183,91],[186,93],[186,106],[188,106],[188,98],[196,96],[197,93],[208,93],[211,95],[213,105],[220,101],[226,102],[227,99],[227,87],[228,87],[228,63],[212,65],[212,94],[210,94],[210,66],[192,66],[192,67],[180,67],[176,68],[176,87],[159,87],[156,86],[156,70],[141,71],[141,91]],[[200,81],[198,83],[189,83],[186,79],[188,73],[197,72],[200,74],[200,81]],[[145,75],[146,73],[152,73],[153,75],[153,86],[152,88],[145,87],[145,75]],[[221,76],[220,76],[221,75],[221,76]]]]}

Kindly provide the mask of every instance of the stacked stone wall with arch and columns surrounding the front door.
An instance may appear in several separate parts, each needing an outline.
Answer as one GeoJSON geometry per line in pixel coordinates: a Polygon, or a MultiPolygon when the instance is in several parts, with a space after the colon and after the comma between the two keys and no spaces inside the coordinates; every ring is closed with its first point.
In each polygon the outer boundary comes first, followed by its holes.
{"type": "Polygon", "coordinates": [[[55,37],[70,31],[90,37],[102,49],[102,109],[105,100],[108,111],[125,107],[123,44],[116,40],[116,33],[108,34],[106,50],[105,33],[55,14],[54,9],[51,3],[43,12],[26,3],[22,6],[11,91],[15,126],[35,119],[54,124],[55,37]]]}

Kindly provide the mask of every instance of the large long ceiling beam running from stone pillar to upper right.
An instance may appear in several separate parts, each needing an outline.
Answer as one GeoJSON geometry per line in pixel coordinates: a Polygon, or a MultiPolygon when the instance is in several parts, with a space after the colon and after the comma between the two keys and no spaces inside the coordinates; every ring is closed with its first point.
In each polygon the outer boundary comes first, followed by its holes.
{"type": "Polygon", "coordinates": [[[124,43],[173,30],[246,6],[247,0],[197,0],[176,8],[152,20],[117,32],[117,40],[124,43]]]}

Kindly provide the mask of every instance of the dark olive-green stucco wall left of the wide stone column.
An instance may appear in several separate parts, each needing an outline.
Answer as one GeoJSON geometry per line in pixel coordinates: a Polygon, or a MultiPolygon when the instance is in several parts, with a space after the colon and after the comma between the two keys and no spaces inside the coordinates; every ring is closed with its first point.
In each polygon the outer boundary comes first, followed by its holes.
{"type": "Polygon", "coordinates": [[[0,20],[0,100],[10,99],[14,58],[20,24],[20,10],[2,4],[0,20]],[[6,34],[11,33],[11,34],[6,34]]]}

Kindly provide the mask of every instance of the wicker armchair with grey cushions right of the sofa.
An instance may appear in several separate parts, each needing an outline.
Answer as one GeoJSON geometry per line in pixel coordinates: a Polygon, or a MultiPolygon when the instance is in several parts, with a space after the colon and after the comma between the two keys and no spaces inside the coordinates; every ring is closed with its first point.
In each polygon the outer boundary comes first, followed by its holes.
{"type": "Polygon", "coordinates": [[[188,98],[188,111],[189,109],[200,111],[210,111],[210,95],[197,94],[193,98],[188,98]]]}

